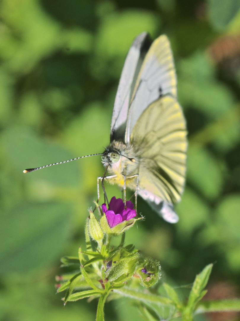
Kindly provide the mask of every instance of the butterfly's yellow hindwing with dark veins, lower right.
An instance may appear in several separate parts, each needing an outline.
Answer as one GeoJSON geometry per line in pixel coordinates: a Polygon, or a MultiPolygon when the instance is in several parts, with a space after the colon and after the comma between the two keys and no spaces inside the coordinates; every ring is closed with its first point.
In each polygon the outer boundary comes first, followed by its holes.
{"type": "Polygon", "coordinates": [[[130,143],[140,158],[140,195],[159,204],[180,201],[185,185],[186,122],[175,98],[153,102],[135,124],[130,143]]]}

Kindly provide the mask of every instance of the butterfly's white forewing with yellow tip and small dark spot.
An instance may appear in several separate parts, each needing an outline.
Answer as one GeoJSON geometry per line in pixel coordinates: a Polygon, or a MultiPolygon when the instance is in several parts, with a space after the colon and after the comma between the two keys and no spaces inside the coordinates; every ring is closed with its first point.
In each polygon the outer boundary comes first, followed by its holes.
{"type": "Polygon", "coordinates": [[[172,50],[165,35],[158,37],[151,45],[140,68],[128,112],[125,143],[143,111],[164,95],[177,98],[177,79],[172,50]]]}

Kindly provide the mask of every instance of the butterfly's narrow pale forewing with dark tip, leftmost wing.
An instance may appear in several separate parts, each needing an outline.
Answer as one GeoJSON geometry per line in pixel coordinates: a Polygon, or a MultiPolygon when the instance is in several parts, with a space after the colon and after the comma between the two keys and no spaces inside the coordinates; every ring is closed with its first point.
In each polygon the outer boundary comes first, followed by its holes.
{"type": "Polygon", "coordinates": [[[151,39],[148,33],[143,32],[137,36],[129,49],[114,102],[110,128],[111,142],[114,139],[124,140],[130,99],[140,67],[150,45],[151,39]]]}

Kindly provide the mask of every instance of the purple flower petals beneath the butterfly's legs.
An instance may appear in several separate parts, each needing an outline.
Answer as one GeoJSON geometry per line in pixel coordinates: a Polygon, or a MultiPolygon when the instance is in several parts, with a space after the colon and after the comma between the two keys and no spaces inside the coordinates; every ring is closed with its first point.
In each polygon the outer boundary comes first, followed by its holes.
{"type": "Polygon", "coordinates": [[[115,225],[128,221],[136,216],[136,211],[133,210],[133,204],[126,201],[126,209],[124,209],[124,202],[121,198],[112,197],[109,203],[109,209],[106,204],[102,204],[102,211],[105,213],[109,226],[112,228],[115,225]]]}

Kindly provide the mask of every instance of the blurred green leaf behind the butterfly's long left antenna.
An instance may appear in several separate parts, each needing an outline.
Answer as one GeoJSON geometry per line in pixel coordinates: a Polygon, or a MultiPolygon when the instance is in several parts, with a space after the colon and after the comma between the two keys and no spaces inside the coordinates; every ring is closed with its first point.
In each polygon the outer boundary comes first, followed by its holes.
{"type": "MultiPolygon", "coordinates": [[[[44,141],[27,127],[12,127],[2,134],[4,141],[2,148],[6,151],[14,167],[23,171],[26,168],[43,166],[54,162],[71,159],[72,155],[56,145],[44,141]]],[[[78,186],[79,169],[77,164],[70,162],[64,169],[61,165],[52,166],[43,170],[24,175],[29,182],[46,181],[60,186],[78,186]]]]}

